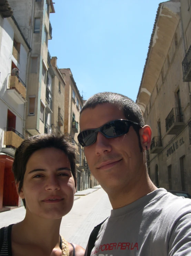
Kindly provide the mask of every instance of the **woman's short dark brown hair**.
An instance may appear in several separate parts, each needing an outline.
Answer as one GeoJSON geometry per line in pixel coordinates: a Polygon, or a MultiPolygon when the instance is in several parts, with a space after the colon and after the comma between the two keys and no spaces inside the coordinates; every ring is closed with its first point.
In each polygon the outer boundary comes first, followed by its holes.
{"type": "MultiPolygon", "coordinates": [[[[25,139],[15,152],[12,171],[16,183],[19,183],[18,192],[21,192],[23,186],[24,174],[29,158],[35,151],[44,148],[60,149],[67,155],[76,187],[76,155],[73,145],[68,142],[65,135],[56,135],[53,133],[40,134],[25,139]]],[[[25,200],[22,199],[22,201],[26,208],[25,200]]]]}

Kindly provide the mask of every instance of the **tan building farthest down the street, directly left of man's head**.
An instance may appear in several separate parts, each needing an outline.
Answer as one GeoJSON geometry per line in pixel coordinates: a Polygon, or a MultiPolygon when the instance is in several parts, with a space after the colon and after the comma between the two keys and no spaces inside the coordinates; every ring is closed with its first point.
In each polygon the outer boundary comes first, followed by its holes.
{"type": "Polygon", "coordinates": [[[80,95],[76,82],[74,81],[71,70],[60,69],[62,77],[66,82],[65,86],[65,109],[64,109],[64,134],[76,147],[76,171],[77,171],[77,190],[87,189],[98,185],[97,180],[92,176],[88,167],[84,150],[78,143],[80,132],[80,111],[83,106],[83,99],[80,95]]]}

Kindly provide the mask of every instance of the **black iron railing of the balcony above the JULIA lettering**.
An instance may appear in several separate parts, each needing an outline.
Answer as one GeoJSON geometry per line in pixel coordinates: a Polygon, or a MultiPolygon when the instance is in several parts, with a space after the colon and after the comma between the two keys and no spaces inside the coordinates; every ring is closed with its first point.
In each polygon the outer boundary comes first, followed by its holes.
{"type": "Polygon", "coordinates": [[[171,112],[168,114],[166,123],[166,132],[170,129],[173,123],[183,122],[183,108],[172,108],[171,112]]]}

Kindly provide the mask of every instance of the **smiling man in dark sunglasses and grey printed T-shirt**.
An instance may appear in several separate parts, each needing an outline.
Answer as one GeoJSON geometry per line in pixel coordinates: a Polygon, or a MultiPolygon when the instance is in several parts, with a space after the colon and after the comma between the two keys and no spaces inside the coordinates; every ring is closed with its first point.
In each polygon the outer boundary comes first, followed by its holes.
{"type": "Polygon", "coordinates": [[[86,256],[191,255],[191,201],[151,182],[145,151],[151,128],[141,109],[121,94],[90,97],[78,141],[113,210],[92,231],[86,256]]]}

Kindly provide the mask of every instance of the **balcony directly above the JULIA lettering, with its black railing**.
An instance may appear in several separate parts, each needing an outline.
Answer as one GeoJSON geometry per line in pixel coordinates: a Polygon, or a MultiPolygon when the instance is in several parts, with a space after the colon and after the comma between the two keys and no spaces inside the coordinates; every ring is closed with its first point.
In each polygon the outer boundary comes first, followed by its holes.
{"type": "Polygon", "coordinates": [[[167,134],[177,134],[184,127],[182,108],[172,108],[166,120],[167,134]]]}

